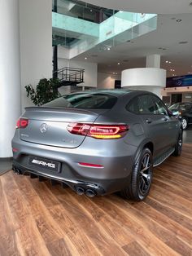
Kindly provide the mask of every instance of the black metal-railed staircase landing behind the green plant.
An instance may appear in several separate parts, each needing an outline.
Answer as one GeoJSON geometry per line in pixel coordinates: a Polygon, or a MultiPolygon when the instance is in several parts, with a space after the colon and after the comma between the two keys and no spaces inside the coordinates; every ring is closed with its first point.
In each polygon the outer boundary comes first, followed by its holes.
{"type": "Polygon", "coordinates": [[[55,71],[59,79],[59,87],[61,86],[76,86],[84,82],[85,69],[82,68],[60,68],[55,71]]]}

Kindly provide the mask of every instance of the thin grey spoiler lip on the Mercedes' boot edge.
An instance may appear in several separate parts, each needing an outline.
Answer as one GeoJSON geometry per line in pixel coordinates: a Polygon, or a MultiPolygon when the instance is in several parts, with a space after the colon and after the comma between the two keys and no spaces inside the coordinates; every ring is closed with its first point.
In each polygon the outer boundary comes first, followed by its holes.
{"type": "MultiPolygon", "coordinates": [[[[64,111],[67,113],[84,113],[84,114],[91,113],[91,114],[98,116],[98,113],[95,113],[94,111],[91,111],[91,110],[82,109],[82,108],[26,107],[24,109],[26,111],[40,111],[40,112],[46,112],[46,111],[52,112],[53,111],[53,112],[57,112],[57,113],[62,113],[64,111]]],[[[105,109],[105,110],[107,110],[107,109],[105,109]]]]}

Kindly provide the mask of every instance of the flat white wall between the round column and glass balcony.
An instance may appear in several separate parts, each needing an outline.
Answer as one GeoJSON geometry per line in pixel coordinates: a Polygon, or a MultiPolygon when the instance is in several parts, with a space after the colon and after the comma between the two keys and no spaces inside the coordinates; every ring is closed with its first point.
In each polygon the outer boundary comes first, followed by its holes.
{"type": "Polygon", "coordinates": [[[52,77],[52,1],[20,0],[22,108],[32,105],[24,86],[52,77]]]}

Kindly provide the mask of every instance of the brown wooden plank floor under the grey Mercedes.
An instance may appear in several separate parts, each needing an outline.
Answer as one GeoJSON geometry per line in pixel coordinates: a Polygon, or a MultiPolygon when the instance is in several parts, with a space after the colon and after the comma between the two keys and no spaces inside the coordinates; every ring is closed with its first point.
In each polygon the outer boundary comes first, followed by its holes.
{"type": "Polygon", "coordinates": [[[154,173],[139,203],[3,174],[0,255],[192,255],[192,144],[154,173]]]}

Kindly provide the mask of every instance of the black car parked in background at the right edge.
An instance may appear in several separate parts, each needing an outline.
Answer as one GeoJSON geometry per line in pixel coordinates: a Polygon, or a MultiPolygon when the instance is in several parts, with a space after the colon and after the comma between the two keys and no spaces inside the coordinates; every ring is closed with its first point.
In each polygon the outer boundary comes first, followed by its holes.
{"type": "Polygon", "coordinates": [[[192,124],[192,103],[184,102],[173,104],[168,108],[171,110],[174,116],[177,116],[182,124],[183,130],[186,130],[187,127],[192,124]]]}

